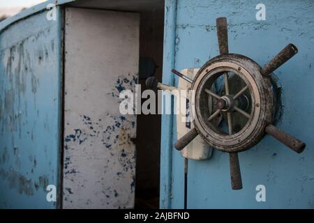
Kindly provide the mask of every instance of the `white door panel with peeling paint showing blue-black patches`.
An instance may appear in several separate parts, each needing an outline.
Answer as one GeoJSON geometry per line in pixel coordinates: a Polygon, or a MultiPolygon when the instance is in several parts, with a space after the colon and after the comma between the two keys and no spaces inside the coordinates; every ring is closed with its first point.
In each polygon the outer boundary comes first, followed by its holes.
{"type": "Polygon", "coordinates": [[[66,10],[63,208],[133,208],[136,116],[119,113],[135,91],[139,16],[66,10]]]}

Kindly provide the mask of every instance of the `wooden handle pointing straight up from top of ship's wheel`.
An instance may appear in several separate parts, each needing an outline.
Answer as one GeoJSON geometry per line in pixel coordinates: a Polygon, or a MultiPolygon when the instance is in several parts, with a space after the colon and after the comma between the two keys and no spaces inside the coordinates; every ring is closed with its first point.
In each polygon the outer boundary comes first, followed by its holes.
{"type": "Polygon", "coordinates": [[[218,17],[216,19],[216,25],[220,55],[228,54],[229,49],[228,49],[227,18],[218,17]]]}

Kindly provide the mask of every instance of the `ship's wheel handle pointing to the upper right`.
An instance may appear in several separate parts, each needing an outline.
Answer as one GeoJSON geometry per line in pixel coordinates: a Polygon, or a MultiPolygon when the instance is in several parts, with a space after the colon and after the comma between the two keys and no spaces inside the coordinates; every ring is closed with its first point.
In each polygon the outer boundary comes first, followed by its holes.
{"type": "Polygon", "coordinates": [[[297,54],[298,49],[295,45],[289,44],[281,50],[271,61],[269,61],[264,68],[262,68],[261,73],[265,77],[269,77],[274,70],[283,65],[287,60],[292,58],[297,54]]]}

